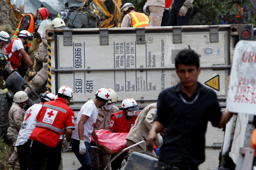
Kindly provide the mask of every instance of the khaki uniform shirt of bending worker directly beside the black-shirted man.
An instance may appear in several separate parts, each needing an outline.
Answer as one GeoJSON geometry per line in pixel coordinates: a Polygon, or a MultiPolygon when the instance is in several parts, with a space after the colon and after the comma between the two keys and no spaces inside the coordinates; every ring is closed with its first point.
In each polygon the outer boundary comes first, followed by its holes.
{"type": "MultiPolygon", "coordinates": [[[[157,116],[157,103],[149,104],[139,113],[135,121],[135,125],[130,129],[126,139],[135,143],[146,141],[151,127],[153,126],[154,118],[157,116]]],[[[146,145],[139,145],[146,150],[146,145]]]]}

